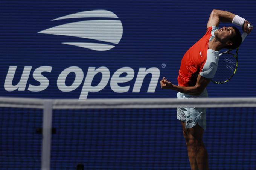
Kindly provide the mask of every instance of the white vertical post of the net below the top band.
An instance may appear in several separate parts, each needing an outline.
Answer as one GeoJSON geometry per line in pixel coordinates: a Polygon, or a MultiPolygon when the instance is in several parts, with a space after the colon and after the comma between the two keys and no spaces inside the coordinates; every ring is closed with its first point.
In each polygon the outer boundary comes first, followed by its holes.
{"type": "Polygon", "coordinates": [[[52,101],[44,101],[41,170],[50,170],[52,138],[52,105],[52,101]]]}

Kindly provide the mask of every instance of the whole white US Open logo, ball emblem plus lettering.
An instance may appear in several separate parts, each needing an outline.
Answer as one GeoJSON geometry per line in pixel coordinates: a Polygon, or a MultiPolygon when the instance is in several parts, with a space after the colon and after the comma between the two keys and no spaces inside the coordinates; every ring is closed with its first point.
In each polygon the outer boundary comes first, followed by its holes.
{"type": "MultiPolygon", "coordinates": [[[[94,10],[78,12],[56,18],[52,21],[64,19],[68,19],[65,20],[66,22],[69,22],[70,20],[73,20],[73,22],[51,27],[38,33],[71,36],[61,38],[61,43],[96,51],[106,51],[114,48],[115,45],[120,42],[123,35],[123,26],[121,21],[116,14],[110,11],[94,10]],[[79,21],[78,19],[73,20],[73,18],[78,18],[79,21]],[[78,40],[72,37],[76,37],[78,40]]],[[[61,72],[56,73],[52,73],[53,66],[44,65],[37,68],[35,67],[36,66],[26,65],[24,66],[22,73],[20,73],[17,71],[18,66],[9,66],[5,78],[4,89],[8,92],[15,90],[42,92],[49,87],[50,81],[53,81],[52,84],[56,84],[56,88],[65,93],[72,92],[73,90],[81,87],[79,99],[87,99],[89,93],[100,92],[105,87],[110,88],[115,93],[125,93],[129,92],[133,86],[131,92],[140,93],[143,81],[148,74],[151,74],[152,76],[148,84],[147,93],[154,93],[160,77],[160,70],[157,67],[139,67],[139,70],[136,72],[131,67],[123,66],[121,68],[117,68],[114,72],[111,72],[107,66],[99,66],[97,68],[95,66],[88,66],[88,68],[69,66],[62,69],[61,72]],[[47,74],[47,76],[54,76],[55,74],[58,76],[52,79],[44,75],[45,72],[51,74],[47,74]],[[67,85],[66,79],[70,73],[75,74],[75,79],[72,84],[67,85]],[[94,77],[96,77],[97,74],[101,74],[102,76],[98,85],[95,86],[93,82],[95,81],[94,77]],[[121,76],[123,74],[125,74],[125,76],[121,76]],[[30,84],[29,81],[31,76],[35,81],[38,81],[39,84],[30,84]],[[135,81],[132,81],[134,78],[135,81]],[[19,79],[19,82],[14,84],[13,81],[16,79],[19,79]],[[121,85],[121,83],[127,84],[121,85]]]]}

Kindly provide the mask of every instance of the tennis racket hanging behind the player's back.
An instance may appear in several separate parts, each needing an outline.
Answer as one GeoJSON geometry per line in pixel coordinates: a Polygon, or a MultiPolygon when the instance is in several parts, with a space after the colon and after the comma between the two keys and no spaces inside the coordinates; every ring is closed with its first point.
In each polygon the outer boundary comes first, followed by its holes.
{"type": "MultiPolygon", "coordinates": [[[[249,28],[253,26],[248,24],[249,28]]],[[[242,34],[242,42],[244,41],[247,33],[242,34]]],[[[238,47],[239,48],[239,47],[238,47]]],[[[214,78],[212,79],[213,83],[222,84],[228,82],[236,73],[238,67],[238,48],[236,48],[236,54],[232,54],[227,50],[219,54],[218,69],[215,73],[214,78]]]]}

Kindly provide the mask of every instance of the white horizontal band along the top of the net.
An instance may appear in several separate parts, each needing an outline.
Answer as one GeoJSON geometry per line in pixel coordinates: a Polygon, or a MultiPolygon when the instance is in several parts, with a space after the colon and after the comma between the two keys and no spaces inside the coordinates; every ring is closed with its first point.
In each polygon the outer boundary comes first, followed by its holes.
{"type": "Polygon", "coordinates": [[[44,108],[51,102],[53,109],[111,109],[111,108],[176,108],[176,107],[256,107],[252,98],[121,98],[121,99],[30,99],[0,97],[0,107],[44,108]]]}

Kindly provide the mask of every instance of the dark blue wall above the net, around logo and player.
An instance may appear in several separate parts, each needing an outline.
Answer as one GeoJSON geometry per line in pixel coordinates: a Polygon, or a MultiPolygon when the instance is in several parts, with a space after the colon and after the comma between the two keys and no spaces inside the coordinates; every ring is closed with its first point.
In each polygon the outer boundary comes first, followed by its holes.
{"type": "MultiPolygon", "coordinates": [[[[163,76],[177,84],[181,58],[206,31],[206,24],[212,9],[222,9],[255,22],[255,1],[2,1],[0,36],[0,93],[1,96],[40,97],[40,98],[79,98],[89,67],[105,66],[110,70],[110,78],[122,67],[134,70],[134,77],[119,86],[130,86],[127,92],[117,93],[110,87],[110,81],[99,92],[89,92],[87,98],[140,98],[175,97],[176,92],[161,90],[157,87],[147,92],[151,74],[146,75],[139,92],[133,92],[139,68],[157,68],[158,76],[163,76]],[[72,18],[55,20],[69,14],[82,11],[104,9],[118,18],[72,18]],[[77,38],[74,36],[38,33],[58,25],[83,20],[120,20],[123,27],[122,38],[118,44],[103,42],[115,47],[107,51],[95,51],[87,48],[62,44],[63,42],[102,41],[77,38]],[[165,68],[162,67],[165,65],[165,68]],[[17,66],[13,81],[6,83],[10,66],[17,66]],[[8,90],[10,82],[16,85],[21,78],[24,66],[32,66],[24,88],[8,90]],[[52,67],[51,72],[42,75],[49,80],[49,86],[40,92],[29,90],[29,84],[40,86],[33,72],[40,66],[52,67]],[[62,92],[57,87],[61,72],[70,66],[82,69],[82,83],[75,90],[62,92]],[[7,87],[7,88],[6,88],[7,87]]],[[[220,24],[229,26],[231,24],[220,24]]],[[[76,30],[72,30],[76,32],[76,30]]],[[[238,72],[226,84],[208,86],[209,96],[255,96],[256,54],[255,33],[248,36],[239,50],[238,72]]],[[[121,74],[125,76],[126,74],[121,74]]],[[[66,86],[72,85],[75,73],[70,73],[66,86]]],[[[92,86],[101,80],[96,74],[92,86]]],[[[78,84],[79,85],[79,84],[78,84]]]]}

